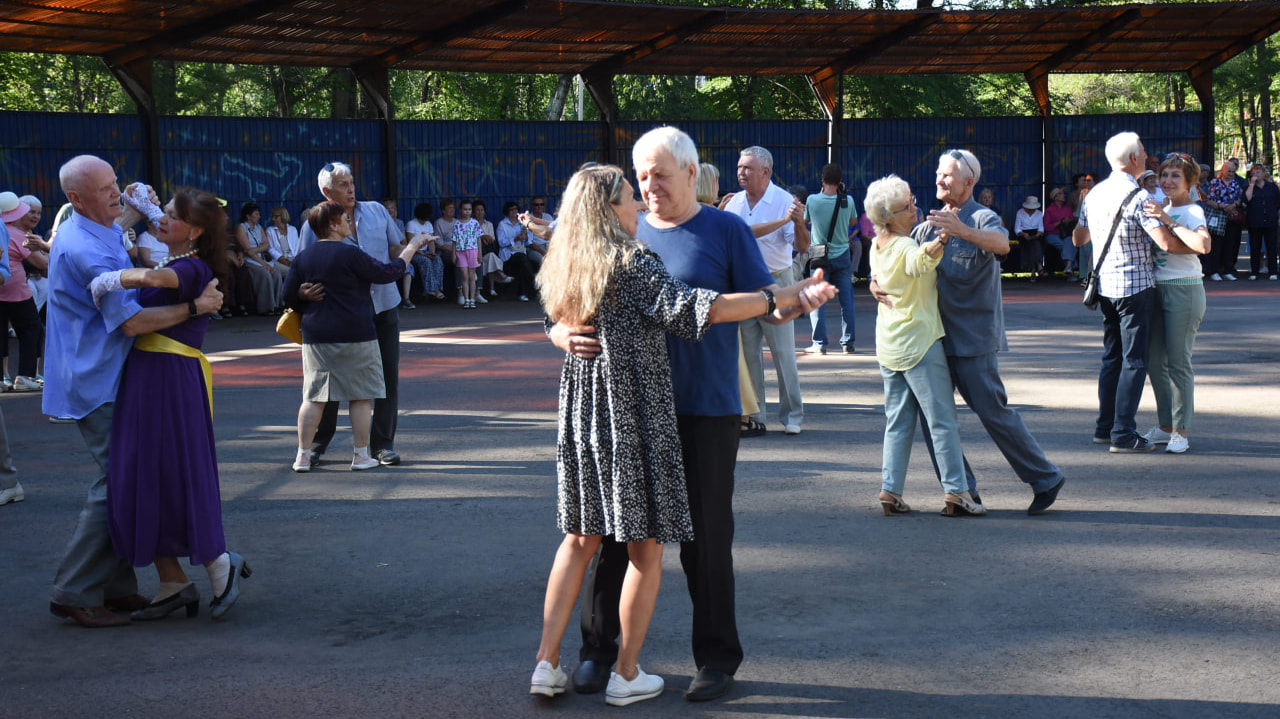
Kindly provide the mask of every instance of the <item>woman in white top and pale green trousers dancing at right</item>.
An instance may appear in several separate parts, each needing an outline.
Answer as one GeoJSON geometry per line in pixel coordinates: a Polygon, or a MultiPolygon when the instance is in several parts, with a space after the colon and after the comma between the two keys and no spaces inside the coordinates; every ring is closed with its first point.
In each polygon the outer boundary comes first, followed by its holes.
{"type": "MultiPolygon", "coordinates": [[[[1175,152],[1160,164],[1158,177],[1170,202],[1161,206],[1148,200],[1143,206],[1147,216],[1158,217],[1187,247],[1207,253],[1211,238],[1204,210],[1190,198],[1190,189],[1199,180],[1199,164],[1175,152]]],[[[1165,452],[1180,454],[1190,446],[1187,431],[1196,413],[1192,347],[1204,319],[1204,280],[1196,255],[1170,255],[1153,247],[1152,257],[1157,307],[1148,331],[1147,368],[1160,426],[1143,436],[1152,444],[1165,444],[1165,452]]]]}

